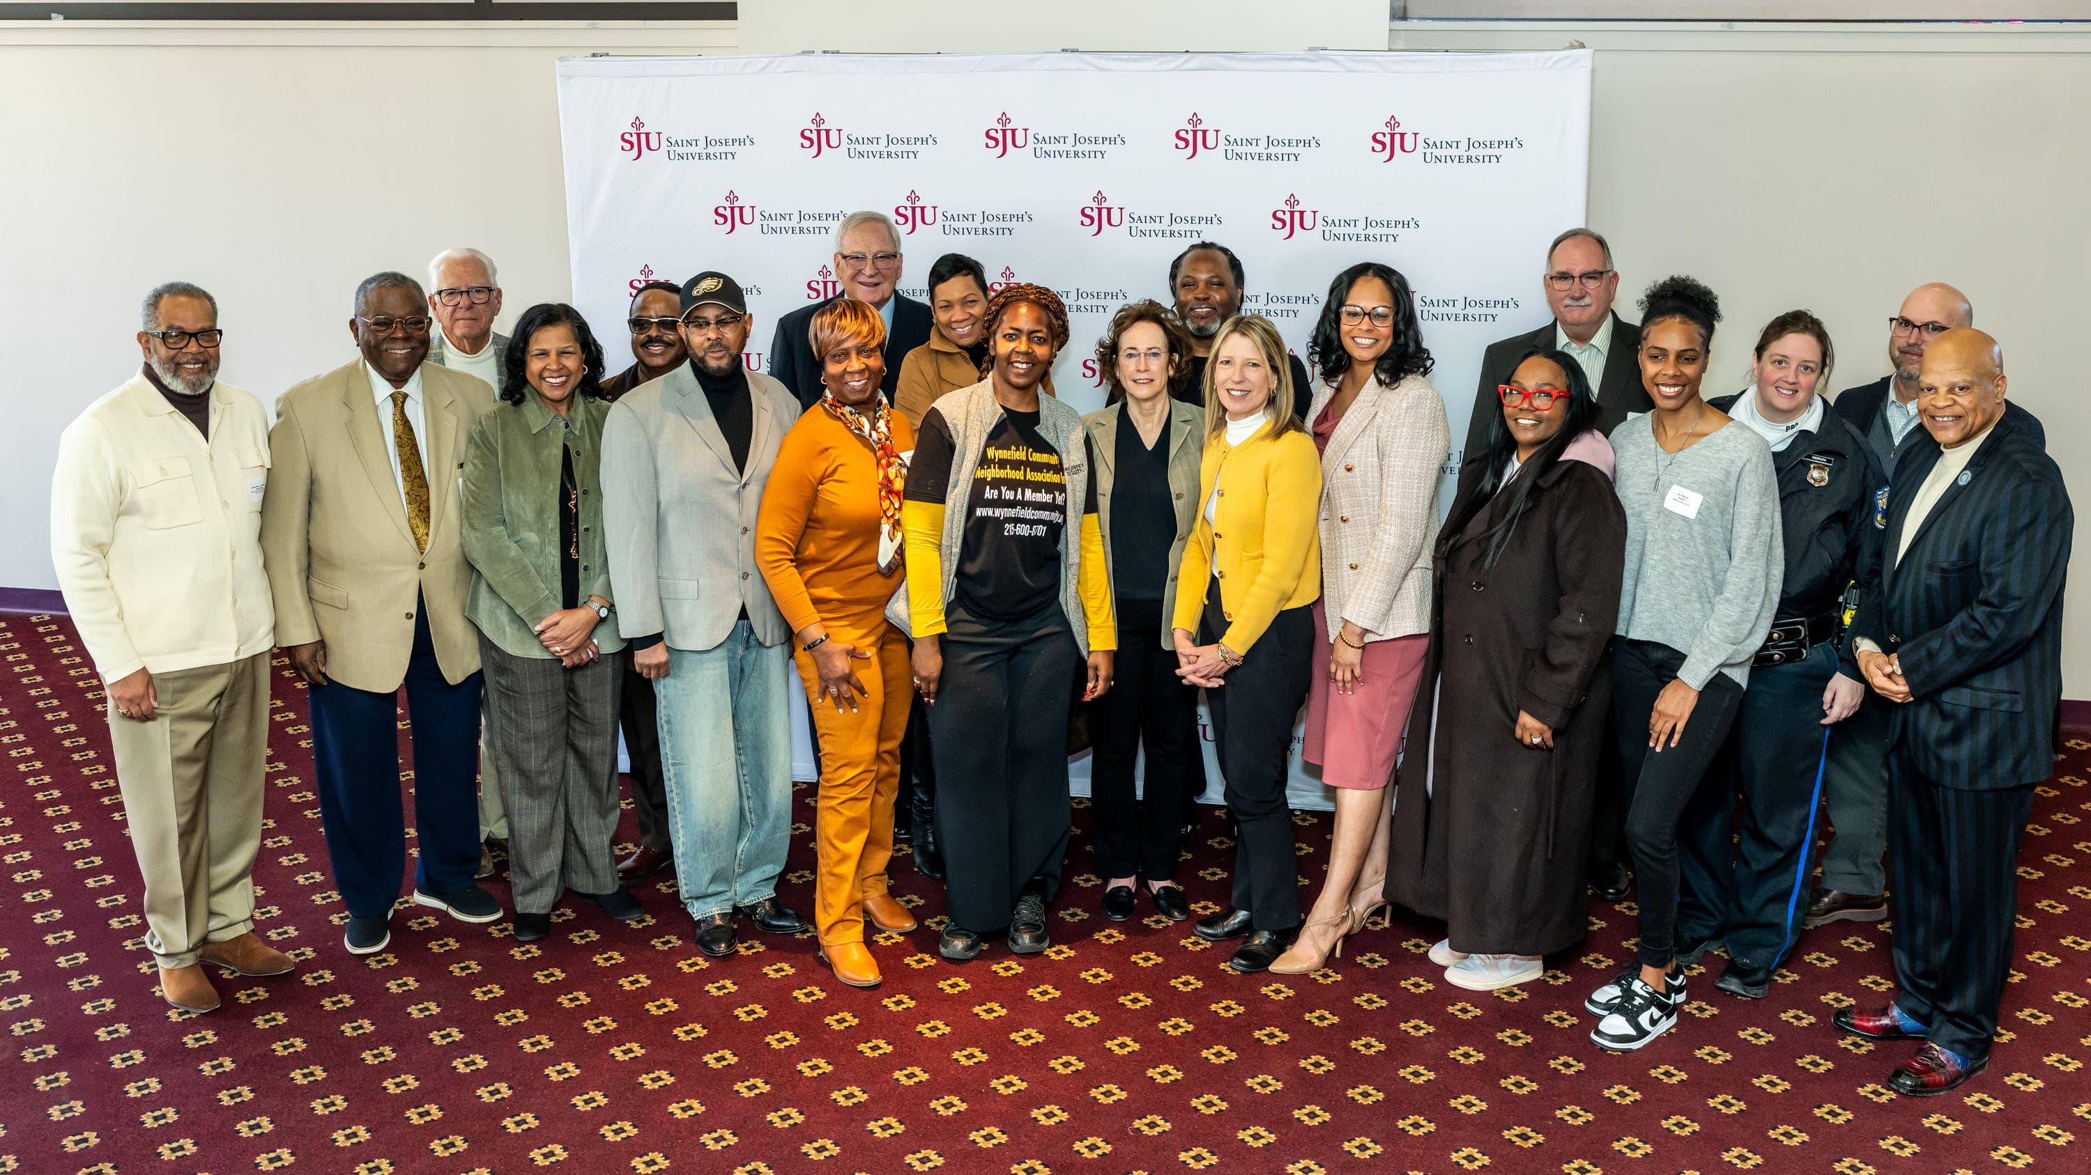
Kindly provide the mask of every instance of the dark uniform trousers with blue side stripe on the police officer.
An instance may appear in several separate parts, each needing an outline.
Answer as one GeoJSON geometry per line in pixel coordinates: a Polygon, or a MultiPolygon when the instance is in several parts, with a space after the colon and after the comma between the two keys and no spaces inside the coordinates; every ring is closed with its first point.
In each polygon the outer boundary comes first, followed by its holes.
{"type": "MultiPolygon", "coordinates": [[[[1677,941],[1777,968],[1809,912],[1809,849],[1821,799],[1823,690],[1836,646],[1750,669],[1721,755],[1685,809],[1677,941]]],[[[1698,715],[1692,715],[1694,721],[1698,715]]]]}

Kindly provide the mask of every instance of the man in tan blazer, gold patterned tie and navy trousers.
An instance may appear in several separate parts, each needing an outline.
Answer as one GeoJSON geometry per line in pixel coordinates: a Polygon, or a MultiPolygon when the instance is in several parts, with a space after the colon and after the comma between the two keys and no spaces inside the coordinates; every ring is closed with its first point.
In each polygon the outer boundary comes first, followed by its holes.
{"type": "Polygon", "coordinates": [[[462,470],[485,381],[429,364],[420,282],[355,289],[353,362],[276,401],[261,552],[276,642],[305,682],[320,822],[351,953],[383,951],[406,868],[399,686],[414,742],[414,903],[464,922],[502,905],[479,868],[479,638],[464,619],[462,470]]]}

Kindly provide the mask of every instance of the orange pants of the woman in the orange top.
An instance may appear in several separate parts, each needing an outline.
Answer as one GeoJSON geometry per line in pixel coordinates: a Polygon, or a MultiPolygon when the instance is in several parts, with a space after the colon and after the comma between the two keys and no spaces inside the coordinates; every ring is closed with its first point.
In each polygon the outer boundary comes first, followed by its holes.
{"type": "Polygon", "coordinates": [[[872,656],[849,665],[870,692],[857,711],[820,696],[813,654],[797,650],[799,679],[813,700],[813,732],[820,740],[820,797],[813,817],[818,876],[813,880],[813,926],[826,947],[864,941],[864,899],[887,893],[887,861],[893,857],[893,797],[901,788],[901,734],[914,700],[914,671],[907,638],[882,617],[872,631],[828,623],[828,640],[853,644],[872,656]]]}

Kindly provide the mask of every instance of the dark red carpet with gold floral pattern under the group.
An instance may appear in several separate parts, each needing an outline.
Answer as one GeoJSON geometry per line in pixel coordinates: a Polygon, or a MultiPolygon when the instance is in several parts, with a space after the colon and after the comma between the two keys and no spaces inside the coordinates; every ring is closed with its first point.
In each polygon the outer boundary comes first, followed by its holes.
{"type": "MultiPolygon", "coordinates": [[[[1052,951],[951,966],[928,928],[882,935],[878,991],[834,983],[809,937],[705,960],[659,889],[650,922],[562,912],[539,945],[406,907],[389,953],[353,960],[286,671],[257,882],[299,970],[222,978],[224,1008],[178,1014],[140,943],[92,669],[63,617],[0,615],[0,1171],[2087,1169],[2083,740],[2035,809],[1993,1064],[1911,1102],[1884,1089],[1901,1045],[1830,1029],[1890,987],[1874,926],[1811,932],[1763,1001],[1702,972],[1679,1031],[1608,1056],[1581,1001],[1629,955],[1631,907],[1593,905],[1545,983],[1493,997],[1445,985],[1432,928],[1399,918],[1322,974],[1242,978],[1167,920],[1106,922],[1081,836],[1052,951]]],[[[805,909],[809,788],[799,803],[786,899],[805,909]]],[[[1317,876],[1328,822],[1296,824],[1317,876]]],[[[1186,872],[1200,912],[1227,847],[1209,815],[1186,872]]],[[[912,866],[895,882],[941,909],[912,866]]]]}

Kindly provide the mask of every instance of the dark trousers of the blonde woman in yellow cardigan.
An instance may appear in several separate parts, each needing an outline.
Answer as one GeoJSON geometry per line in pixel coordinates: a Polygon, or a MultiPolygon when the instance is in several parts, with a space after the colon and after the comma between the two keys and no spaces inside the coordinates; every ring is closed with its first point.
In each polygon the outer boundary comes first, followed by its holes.
{"type": "MultiPolygon", "coordinates": [[[[1207,596],[1200,644],[1227,631],[1219,610],[1219,590],[1207,596]]],[[[1257,646],[1227,671],[1225,686],[1207,690],[1213,738],[1219,742],[1219,776],[1234,813],[1234,907],[1250,914],[1257,930],[1290,930],[1301,924],[1299,863],[1292,853],[1292,807],[1286,778],[1292,759],[1292,725],[1307,702],[1313,673],[1313,608],[1286,608],[1263,629],[1257,646]]]]}

